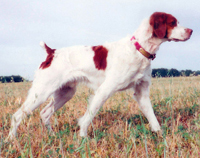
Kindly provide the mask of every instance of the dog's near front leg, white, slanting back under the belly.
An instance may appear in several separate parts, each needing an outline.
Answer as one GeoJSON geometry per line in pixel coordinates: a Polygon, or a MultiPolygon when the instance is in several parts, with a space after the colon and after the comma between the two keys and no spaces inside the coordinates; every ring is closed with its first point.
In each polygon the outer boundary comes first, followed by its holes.
{"type": "Polygon", "coordinates": [[[99,111],[104,102],[115,92],[115,86],[110,87],[110,85],[111,84],[103,83],[98,88],[84,116],[79,119],[78,124],[80,126],[80,136],[87,136],[88,126],[92,122],[94,116],[99,111]]]}

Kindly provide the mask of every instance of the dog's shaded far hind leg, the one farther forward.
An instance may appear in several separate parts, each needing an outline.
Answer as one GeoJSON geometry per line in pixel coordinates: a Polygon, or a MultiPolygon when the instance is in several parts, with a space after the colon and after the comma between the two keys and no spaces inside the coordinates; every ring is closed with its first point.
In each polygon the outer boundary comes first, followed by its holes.
{"type": "Polygon", "coordinates": [[[76,86],[64,86],[56,90],[53,94],[51,102],[42,109],[40,116],[42,122],[51,131],[50,118],[55,111],[60,109],[67,101],[69,101],[76,92],[76,86]]]}

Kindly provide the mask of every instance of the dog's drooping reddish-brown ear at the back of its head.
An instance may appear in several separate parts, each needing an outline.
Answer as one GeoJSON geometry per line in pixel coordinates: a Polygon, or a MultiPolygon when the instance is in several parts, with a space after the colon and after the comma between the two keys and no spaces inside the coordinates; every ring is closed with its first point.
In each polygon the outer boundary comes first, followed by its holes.
{"type": "Polygon", "coordinates": [[[160,39],[164,38],[167,33],[167,15],[166,13],[155,12],[150,17],[150,25],[153,27],[153,36],[160,39]]]}

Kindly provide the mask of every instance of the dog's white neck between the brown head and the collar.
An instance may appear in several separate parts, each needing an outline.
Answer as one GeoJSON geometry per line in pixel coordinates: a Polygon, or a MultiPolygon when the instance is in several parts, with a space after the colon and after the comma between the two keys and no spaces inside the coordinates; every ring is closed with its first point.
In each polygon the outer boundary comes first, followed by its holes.
{"type": "Polygon", "coordinates": [[[145,19],[140,27],[135,31],[134,36],[138,43],[150,54],[156,54],[161,43],[167,41],[153,36],[153,28],[149,20],[145,19]]]}

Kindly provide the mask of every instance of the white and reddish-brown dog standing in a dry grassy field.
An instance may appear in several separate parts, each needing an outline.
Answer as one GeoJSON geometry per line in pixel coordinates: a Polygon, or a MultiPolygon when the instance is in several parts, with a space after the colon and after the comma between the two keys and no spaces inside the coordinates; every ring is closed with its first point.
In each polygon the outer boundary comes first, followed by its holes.
{"type": "Polygon", "coordinates": [[[132,89],[133,98],[148,119],[151,130],[160,130],[150,99],[151,61],[163,42],[186,41],[193,30],[182,27],[171,14],[155,12],[145,19],[133,36],[98,46],[73,46],[51,49],[44,42],[47,58],[35,72],[32,87],[21,108],[12,116],[9,137],[16,136],[22,119],[45,102],[51,102],[40,112],[43,123],[51,130],[50,117],[69,101],[79,82],[94,90],[94,96],[84,116],[78,121],[80,136],[87,136],[90,122],[115,92],[132,89]]]}

